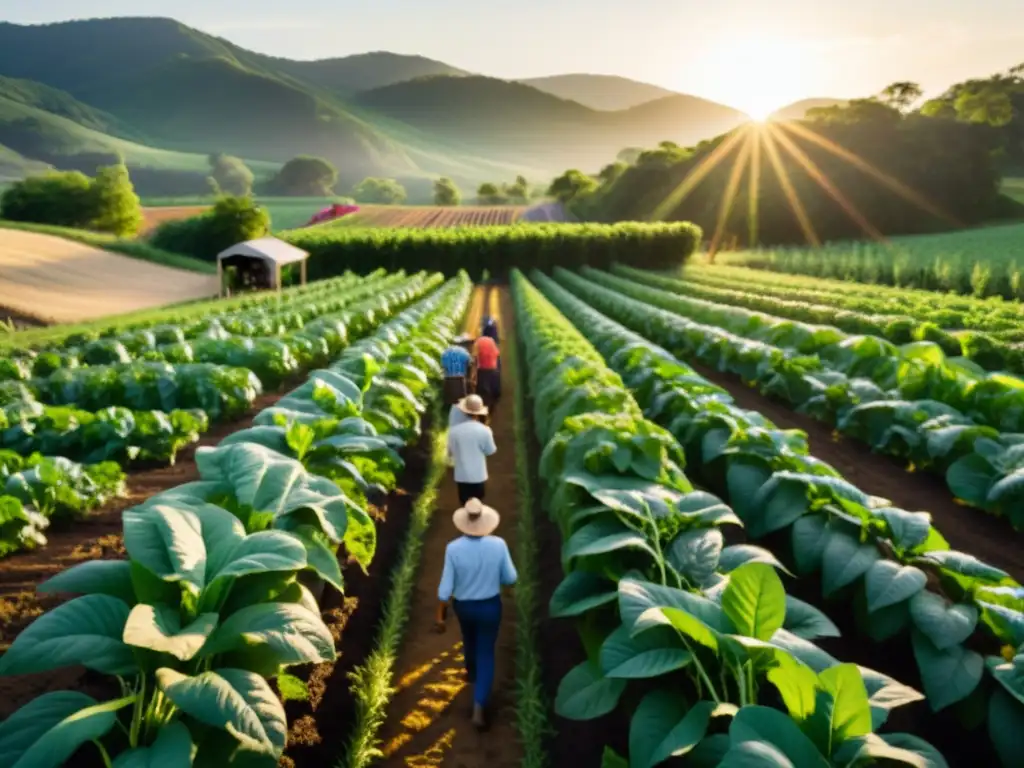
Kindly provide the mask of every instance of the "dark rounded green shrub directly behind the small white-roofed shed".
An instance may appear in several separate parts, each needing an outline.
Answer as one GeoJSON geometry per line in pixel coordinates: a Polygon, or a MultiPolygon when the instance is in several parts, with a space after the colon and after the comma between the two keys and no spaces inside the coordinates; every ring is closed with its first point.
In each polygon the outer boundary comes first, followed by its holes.
{"type": "Polygon", "coordinates": [[[154,232],[156,248],[204,261],[236,243],[262,238],[270,230],[270,214],[252,198],[220,198],[210,211],[179,221],[168,221],[154,232]]]}

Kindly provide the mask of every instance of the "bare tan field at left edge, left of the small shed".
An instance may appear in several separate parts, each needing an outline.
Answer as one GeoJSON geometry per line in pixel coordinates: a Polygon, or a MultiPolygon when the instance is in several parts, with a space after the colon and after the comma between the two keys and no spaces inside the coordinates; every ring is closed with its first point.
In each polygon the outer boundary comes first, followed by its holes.
{"type": "Polygon", "coordinates": [[[214,275],[49,234],[0,230],[0,306],[18,314],[76,323],[216,294],[214,275]]]}

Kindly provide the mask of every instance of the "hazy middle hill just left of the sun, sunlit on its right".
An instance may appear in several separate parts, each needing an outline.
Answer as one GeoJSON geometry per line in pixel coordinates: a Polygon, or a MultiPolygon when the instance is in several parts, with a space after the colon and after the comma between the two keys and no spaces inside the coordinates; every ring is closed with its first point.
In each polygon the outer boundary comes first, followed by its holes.
{"type": "Polygon", "coordinates": [[[479,76],[428,77],[359,93],[354,103],[474,151],[546,168],[597,170],[624,146],[692,144],[749,118],[673,95],[601,112],[528,85],[479,76]]]}

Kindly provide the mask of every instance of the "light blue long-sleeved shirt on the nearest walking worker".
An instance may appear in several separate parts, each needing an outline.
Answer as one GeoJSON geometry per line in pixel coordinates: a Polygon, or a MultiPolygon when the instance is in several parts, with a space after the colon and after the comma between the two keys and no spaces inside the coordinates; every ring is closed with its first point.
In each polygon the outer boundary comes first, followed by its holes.
{"type": "Polygon", "coordinates": [[[437,599],[487,600],[515,584],[517,574],[505,540],[497,536],[463,536],[444,550],[444,570],[437,599]]]}

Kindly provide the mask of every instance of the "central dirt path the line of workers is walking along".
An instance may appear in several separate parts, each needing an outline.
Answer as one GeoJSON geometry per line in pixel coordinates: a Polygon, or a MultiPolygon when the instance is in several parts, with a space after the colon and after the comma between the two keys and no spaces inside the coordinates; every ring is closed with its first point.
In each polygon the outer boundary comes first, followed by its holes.
{"type": "MultiPolygon", "coordinates": [[[[467,333],[479,331],[484,290],[478,288],[473,297],[473,305],[466,318],[467,333]]],[[[489,313],[498,319],[502,347],[508,349],[515,343],[508,292],[497,288],[487,292],[489,313]]],[[[512,386],[514,383],[509,369],[503,367],[504,397],[492,414],[490,421],[498,454],[487,466],[487,501],[502,513],[498,535],[515,552],[517,489],[512,402],[508,395],[512,386]]],[[[441,485],[436,521],[427,535],[423,551],[413,613],[395,675],[397,693],[389,709],[388,722],[381,732],[385,755],[381,765],[387,768],[513,768],[521,760],[515,720],[515,605],[512,597],[503,597],[492,726],[485,733],[477,733],[469,721],[472,688],[466,682],[458,622],[452,615],[444,635],[431,631],[444,548],[456,538],[451,512],[458,506],[455,481],[449,474],[441,485]]]]}

